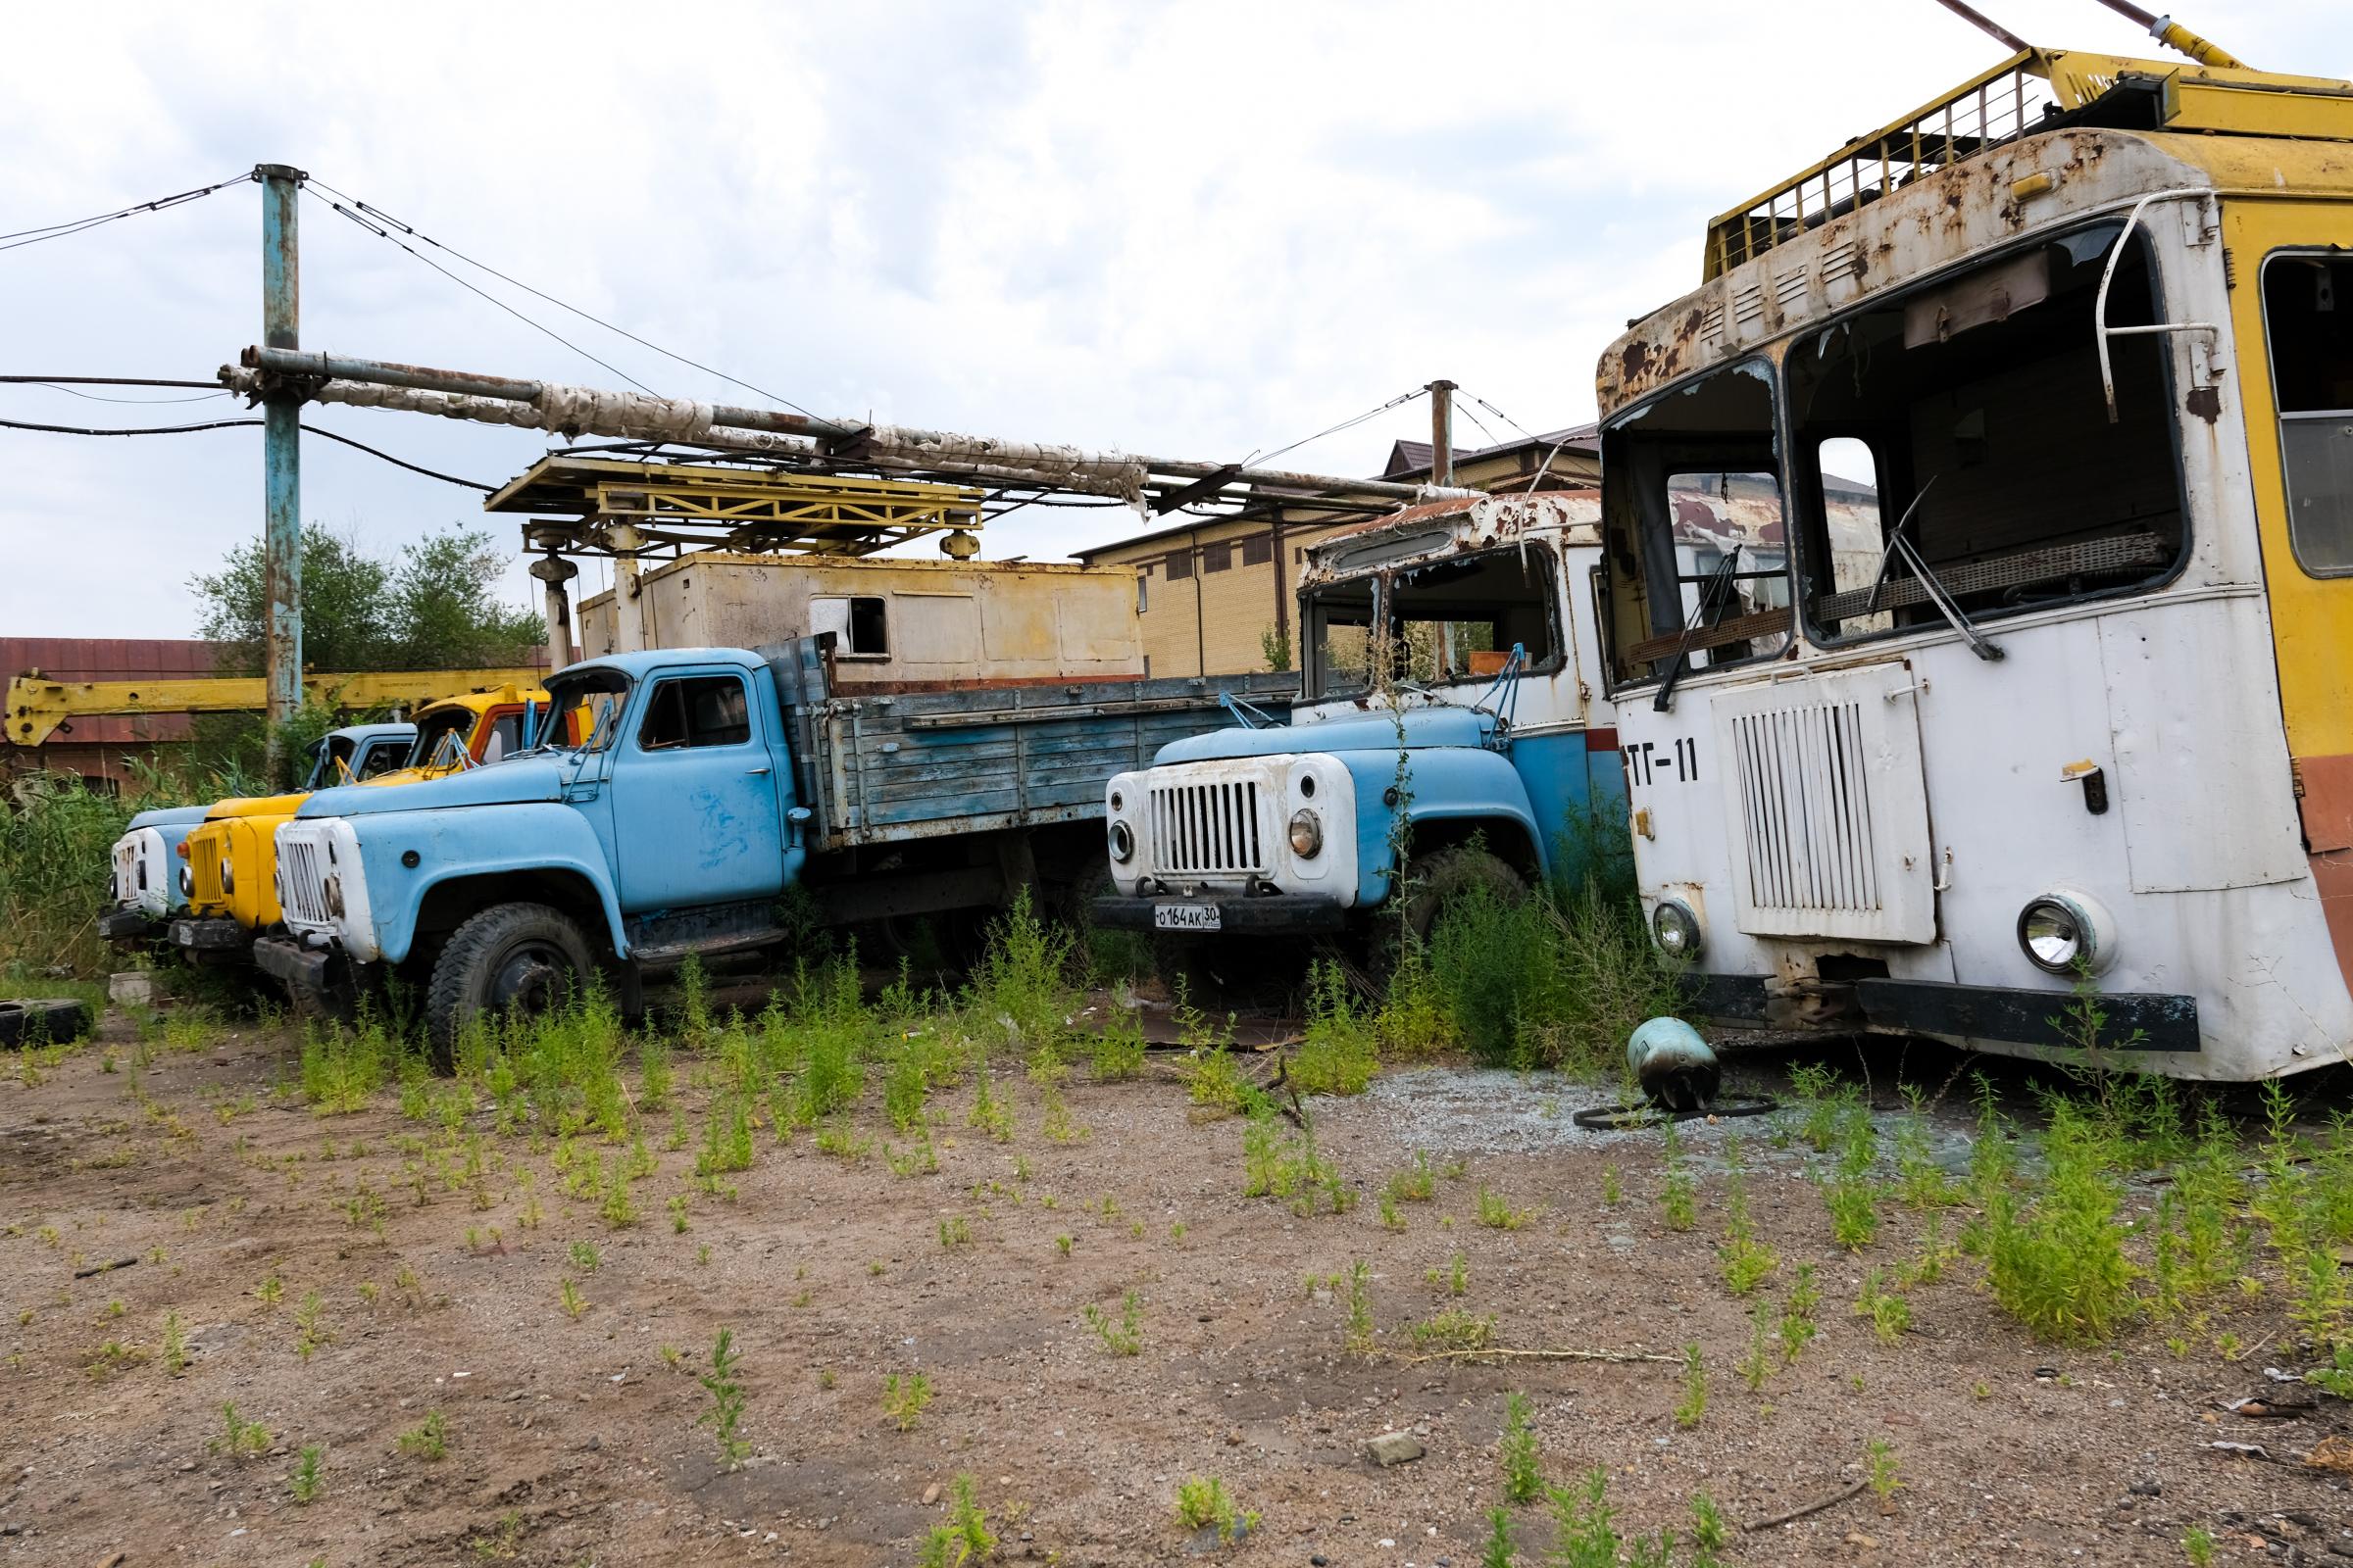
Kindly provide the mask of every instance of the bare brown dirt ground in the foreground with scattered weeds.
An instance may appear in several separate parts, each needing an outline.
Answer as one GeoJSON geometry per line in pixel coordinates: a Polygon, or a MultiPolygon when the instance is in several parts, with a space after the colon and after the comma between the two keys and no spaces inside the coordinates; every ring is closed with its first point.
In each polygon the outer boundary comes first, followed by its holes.
{"type": "MultiPolygon", "coordinates": [[[[1798,1150],[1748,1121],[1751,1206],[1781,1253],[1767,1293],[1798,1260],[1824,1288],[1814,1345],[1751,1392],[1734,1375],[1751,1331],[1718,1276],[1708,1175],[1732,1128],[1687,1128],[1701,1211],[1671,1232],[1659,1135],[1577,1131],[1569,1112],[1605,1095],[1551,1074],[1417,1067],[1318,1103],[1320,1145],[1362,1194],[1341,1215],[1240,1197],[1242,1124],[1202,1121],[1155,1053],[1139,1081],[1073,1077],[1075,1143],[1045,1135],[1014,1070],[998,1093],[1016,1131],[991,1140],[967,1126],[967,1086],[944,1100],[953,1138],[929,1175],[885,1168],[873,1091],[873,1154],[852,1164],[762,1128],[734,1201],[696,1192],[694,1150],[654,1138],[642,1220],[614,1229],[562,1197],[548,1140],[494,1135],[487,1112],[461,1133],[482,1131],[504,1166],[489,1206],[440,1175],[419,1187],[402,1166],[440,1128],[402,1119],[393,1093],[313,1114],[282,1088],[285,1030],[158,1046],[136,1084],[129,1053],[129,1025],[108,1016],[101,1044],[33,1086],[0,1086],[9,1563],[913,1563],[969,1474],[1012,1561],[1468,1568],[1499,1502],[1513,1389],[1534,1401],[1546,1474],[1607,1467],[1628,1533],[1685,1523],[1699,1490],[1739,1523],[1765,1521],[1845,1493],[1866,1443],[1889,1446],[1889,1502],[1864,1490],[1741,1533],[1732,1563],[2179,1563],[2193,1526],[2217,1535],[2219,1561],[2353,1556],[2344,1479],[2301,1462],[2353,1427],[2348,1406],[2320,1399],[2297,1420],[2217,1408],[2280,1392],[2264,1375],[2285,1326],[2273,1302],[2231,1307],[2249,1347],[2235,1361],[2207,1342],[2177,1356],[2153,1328],[2064,1352],[2000,1316],[1962,1258],[1913,1291],[1911,1333],[1882,1345],[1852,1300],[1871,1265],[1915,1251],[1920,1218],[1892,1208],[1866,1253],[1840,1253],[1798,1150]],[[1388,1229],[1379,1190],[1414,1150],[1464,1168],[1433,1201],[1400,1204],[1402,1229],[1388,1229]],[[1485,1227],[1480,1187],[1537,1215],[1485,1227]],[[381,1199],[381,1234],[355,1194],[381,1199]],[[689,1197],[685,1232],[671,1194],[689,1197]],[[969,1241],[946,1246],[955,1220],[969,1241]],[[579,1241],[600,1251],[593,1272],[567,1253],[579,1241]],[[1459,1300],[1431,1284],[1454,1253],[1459,1300]],[[1304,1284],[1353,1260],[1372,1272],[1372,1359],[1344,1349],[1346,1288],[1304,1284]],[[565,1279],[586,1300],[576,1319],[565,1279]],[[1118,1319],[1129,1291],[1141,1352],[1118,1356],[1082,1312],[1118,1319]],[[1497,1342],[1520,1349],[1680,1359],[1697,1342],[1706,1413],[1678,1427],[1673,1363],[1412,1361],[1407,1326],[1445,1307],[1494,1314],[1497,1342]],[[167,1312],[186,1333],[179,1375],[162,1356],[167,1312]],[[696,1425],[711,1401],[694,1371],[720,1326],[741,1349],[741,1469],[722,1469],[696,1425]],[[113,1368],[106,1342],[125,1347],[113,1368]],[[934,1392],[908,1432],[885,1415],[892,1373],[934,1392]],[[224,1403],[268,1429],[266,1453],[214,1446],[224,1403]],[[445,1458],[398,1443],[428,1410],[445,1458]],[[1377,1467],[1365,1443],[1386,1432],[1426,1453],[1377,1467]],[[325,1446],[308,1505],[289,1486],[304,1446],[325,1446]],[[1172,1497],[1188,1476],[1221,1479],[1259,1528],[1240,1544],[1181,1528],[1172,1497]]],[[[1951,1067],[1913,1060],[1932,1088],[1951,1067]]],[[[692,1119],[704,1091],[680,1067],[692,1119]]],[[[1965,1128],[1958,1103],[1939,1110],[1948,1147],[1965,1128]]],[[[1551,1526],[1541,1507],[1518,1516],[1534,1563],[1551,1526]]]]}

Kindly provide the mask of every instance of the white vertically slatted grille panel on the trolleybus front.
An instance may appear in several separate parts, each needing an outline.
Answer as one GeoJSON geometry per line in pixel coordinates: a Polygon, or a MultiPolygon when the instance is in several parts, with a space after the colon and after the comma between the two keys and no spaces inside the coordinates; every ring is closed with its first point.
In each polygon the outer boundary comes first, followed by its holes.
{"type": "Polygon", "coordinates": [[[1748,889],[1781,910],[1878,910],[1861,703],[1732,719],[1748,889]]]}

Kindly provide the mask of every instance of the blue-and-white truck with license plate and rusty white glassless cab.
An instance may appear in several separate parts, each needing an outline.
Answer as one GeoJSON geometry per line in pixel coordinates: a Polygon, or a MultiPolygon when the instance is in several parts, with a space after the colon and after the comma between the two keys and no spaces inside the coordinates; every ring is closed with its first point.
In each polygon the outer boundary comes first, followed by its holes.
{"type": "Polygon", "coordinates": [[[1292,722],[1176,741],[1108,783],[1096,924],[1264,938],[1393,910],[1426,933],[1473,886],[1513,898],[1624,856],[1598,564],[1595,491],[1412,505],[1320,541],[1292,722]]]}

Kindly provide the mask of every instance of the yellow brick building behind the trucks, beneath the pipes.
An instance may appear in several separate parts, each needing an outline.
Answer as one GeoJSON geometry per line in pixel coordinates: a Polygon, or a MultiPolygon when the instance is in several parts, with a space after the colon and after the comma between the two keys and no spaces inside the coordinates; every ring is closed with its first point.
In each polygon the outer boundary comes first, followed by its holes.
{"type": "MultiPolygon", "coordinates": [[[[1457,451],[1454,482],[1471,489],[1565,489],[1600,477],[1593,425],[1457,451]],[[1558,447],[1558,451],[1555,451],[1558,447]],[[1546,456],[1551,463],[1546,465],[1546,456]]],[[[1428,442],[1398,442],[1381,480],[1431,475],[1428,442]]],[[[1308,545],[1362,517],[1313,505],[1268,505],[1075,550],[1089,567],[1134,567],[1151,675],[1266,670],[1271,642],[1297,646],[1299,567],[1308,545]]]]}

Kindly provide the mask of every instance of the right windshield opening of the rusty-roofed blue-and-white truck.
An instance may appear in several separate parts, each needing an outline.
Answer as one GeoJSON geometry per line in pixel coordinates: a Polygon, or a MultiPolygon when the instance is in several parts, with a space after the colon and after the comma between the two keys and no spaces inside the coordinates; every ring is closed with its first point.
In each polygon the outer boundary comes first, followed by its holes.
{"type": "Polygon", "coordinates": [[[1555,663],[1551,557],[1489,550],[1398,571],[1388,583],[1388,637],[1398,677],[1421,684],[1494,679],[1511,649],[1522,668],[1555,663]]]}

